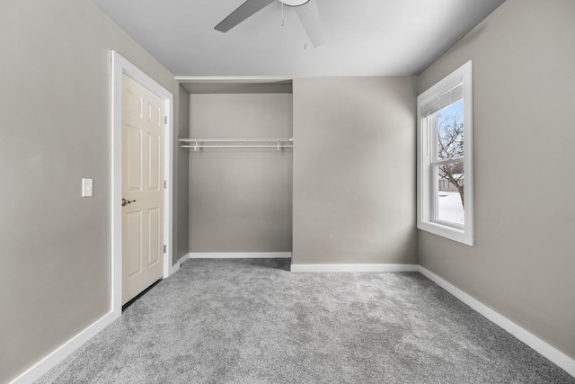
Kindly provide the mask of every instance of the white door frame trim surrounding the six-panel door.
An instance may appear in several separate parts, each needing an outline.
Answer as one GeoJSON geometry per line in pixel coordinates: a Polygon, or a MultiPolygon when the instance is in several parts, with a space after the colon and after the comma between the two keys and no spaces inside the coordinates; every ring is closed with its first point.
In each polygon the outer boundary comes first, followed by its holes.
{"type": "Polygon", "coordinates": [[[111,310],[122,310],[122,75],[131,77],[165,102],[164,129],[164,279],[173,259],[173,94],[118,52],[111,51],[111,310]]]}

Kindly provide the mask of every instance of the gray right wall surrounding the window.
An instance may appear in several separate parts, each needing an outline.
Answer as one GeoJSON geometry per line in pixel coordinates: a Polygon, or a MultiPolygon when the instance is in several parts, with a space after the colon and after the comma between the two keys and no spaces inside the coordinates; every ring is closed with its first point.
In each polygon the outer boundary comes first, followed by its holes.
{"type": "Polygon", "coordinates": [[[575,2],[508,0],[420,76],[473,59],[475,246],[420,263],[575,358],[575,2]]]}

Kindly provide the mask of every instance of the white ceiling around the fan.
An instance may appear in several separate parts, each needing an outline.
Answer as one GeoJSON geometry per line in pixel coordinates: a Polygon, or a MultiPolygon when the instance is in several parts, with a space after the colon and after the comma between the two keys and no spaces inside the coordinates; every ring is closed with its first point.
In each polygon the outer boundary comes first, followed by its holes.
{"type": "Polygon", "coordinates": [[[222,33],[244,0],[92,0],[175,76],[282,77],[417,75],[504,0],[315,1],[318,48],[279,2],[222,33]]]}

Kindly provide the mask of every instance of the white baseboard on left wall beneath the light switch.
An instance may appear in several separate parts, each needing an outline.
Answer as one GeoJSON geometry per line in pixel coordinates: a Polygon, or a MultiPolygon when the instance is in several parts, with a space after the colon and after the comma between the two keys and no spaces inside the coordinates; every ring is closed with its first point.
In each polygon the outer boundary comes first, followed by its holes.
{"type": "Polygon", "coordinates": [[[40,362],[32,365],[31,368],[24,371],[16,379],[10,381],[10,384],[29,384],[40,379],[43,374],[54,368],[58,362],[62,362],[69,354],[75,352],[76,349],[80,348],[94,335],[97,335],[106,326],[109,326],[111,322],[118,317],[120,317],[120,314],[115,312],[109,312],[103,317],[100,317],[92,326],[88,326],[84,331],[57,347],[57,349],[49,353],[49,355],[40,360],[40,362]]]}

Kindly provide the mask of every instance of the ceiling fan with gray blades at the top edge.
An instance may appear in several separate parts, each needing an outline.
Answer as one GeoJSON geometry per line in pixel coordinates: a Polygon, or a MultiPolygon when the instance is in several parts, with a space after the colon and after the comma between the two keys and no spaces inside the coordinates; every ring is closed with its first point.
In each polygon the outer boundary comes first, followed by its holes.
{"type": "Polygon", "coordinates": [[[314,47],[319,47],[325,42],[322,22],[315,0],[247,0],[233,13],[230,13],[226,19],[217,24],[214,29],[222,32],[229,31],[252,14],[258,13],[261,9],[277,1],[296,11],[299,21],[304,26],[305,33],[314,47]]]}

